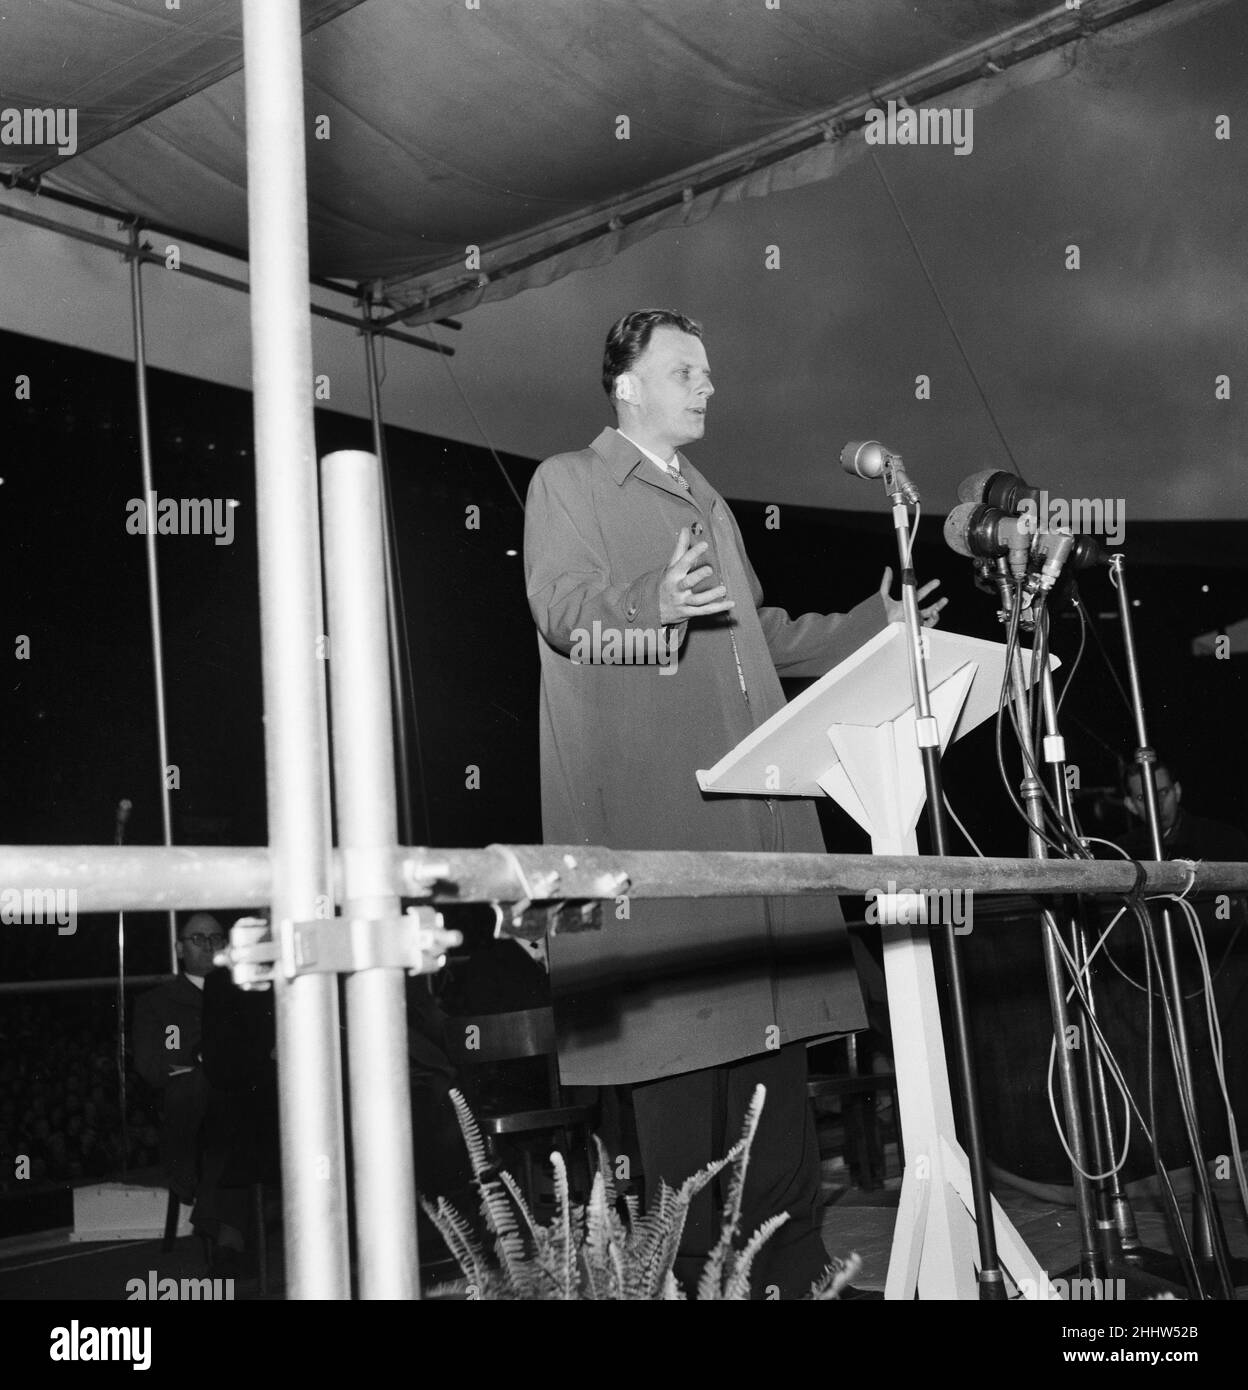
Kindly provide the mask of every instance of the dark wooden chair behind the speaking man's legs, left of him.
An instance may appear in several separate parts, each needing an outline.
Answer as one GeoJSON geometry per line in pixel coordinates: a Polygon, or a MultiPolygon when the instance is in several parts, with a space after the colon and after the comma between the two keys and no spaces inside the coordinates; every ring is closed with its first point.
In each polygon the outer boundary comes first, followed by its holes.
{"type": "MultiPolygon", "coordinates": [[[[510,1013],[478,1013],[471,1017],[448,1017],[446,1055],[456,1069],[475,1070],[509,1062],[542,1058],[546,1063],[546,1104],[536,1108],[510,1109],[498,1105],[474,1105],[473,1113],[481,1127],[492,1159],[498,1159],[498,1141],[527,1138],[550,1133],[563,1140],[563,1154],[574,1175],[571,1136],[580,1136],[585,1156],[585,1193],[598,1168],[593,1145],[596,1105],[567,1102],[559,1084],[559,1061],[555,1041],[555,1012],[550,1008],[516,1009],[510,1013]]],[[[471,1077],[470,1077],[471,1084],[471,1077]]],[[[535,1205],[534,1158],[529,1145],[523,1145],[523,1188],[529,1205],[535,1205]]]]}

